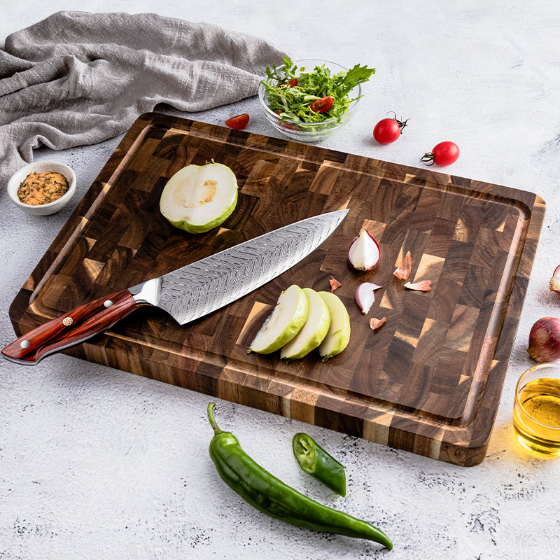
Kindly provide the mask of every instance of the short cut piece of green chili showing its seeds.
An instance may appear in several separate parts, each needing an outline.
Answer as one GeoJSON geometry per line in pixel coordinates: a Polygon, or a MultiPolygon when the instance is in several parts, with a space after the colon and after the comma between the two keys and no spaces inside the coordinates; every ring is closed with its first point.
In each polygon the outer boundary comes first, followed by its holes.
{"type": "Polygon", "coordinates": [[[308,475],[320,480],[331,490],[346,496],[346,471],[344,467],[313,440],[307,433],[297,433],[292,440],[297,463],[308,475]]]}

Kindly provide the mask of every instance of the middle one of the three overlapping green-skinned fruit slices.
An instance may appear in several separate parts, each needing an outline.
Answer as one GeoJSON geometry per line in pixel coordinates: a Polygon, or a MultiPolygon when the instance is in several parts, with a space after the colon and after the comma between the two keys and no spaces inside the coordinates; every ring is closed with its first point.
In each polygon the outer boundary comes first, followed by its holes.
{"type": "Polygon", "coordinates": [[[303,292],[309,300],[307,321],[305,321],[300,332],[288,344],[282,346],[280,357],[286,358],[286,360],[299,360],[311,350],[316,349],[323,342],[330,325],[328,307],[321,296],[311,288],[303,288],[303,292]]]}

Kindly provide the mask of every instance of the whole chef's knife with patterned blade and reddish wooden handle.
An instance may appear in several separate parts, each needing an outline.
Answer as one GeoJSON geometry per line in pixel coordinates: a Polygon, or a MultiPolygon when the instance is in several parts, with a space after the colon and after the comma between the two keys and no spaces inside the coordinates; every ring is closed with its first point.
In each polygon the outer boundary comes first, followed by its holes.
{"type": "Polygon", "coordinates": [[[22,335],[1,351],[2,356],[34,365],[51,353],[104,332],[140,305],[165,309],[180,325],[195,321],[300,262],[325,241],[347,212],[337,210],[286,225],[158,278],[86,303],[22,335]]]}

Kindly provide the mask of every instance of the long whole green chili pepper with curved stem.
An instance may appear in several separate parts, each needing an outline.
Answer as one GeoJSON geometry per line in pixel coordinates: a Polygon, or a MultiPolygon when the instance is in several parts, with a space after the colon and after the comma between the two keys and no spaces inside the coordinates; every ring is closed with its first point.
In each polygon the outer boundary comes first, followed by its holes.
{"type": "Polygon", "coordinates": [[[311,500],[255,463],[241,449],[235,435],[218,428],[212,412],[214,406],[214,402],[210,402],[207,411],[214,429],[210,456],[225,484],[246,502],[257,510],[292,525],[374,540],[389,550],[393,548],[388,536],[377,527],[311,500]]]}

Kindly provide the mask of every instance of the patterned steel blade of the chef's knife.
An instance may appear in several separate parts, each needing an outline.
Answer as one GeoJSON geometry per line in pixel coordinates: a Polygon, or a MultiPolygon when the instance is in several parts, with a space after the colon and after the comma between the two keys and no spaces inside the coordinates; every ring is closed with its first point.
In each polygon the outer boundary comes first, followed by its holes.
{"type": "Polygon", "coordinates": [[[347,212],[306,218],[160,276],[155,304],[181,325],[216,311],[300,262],[347,212]]]}

